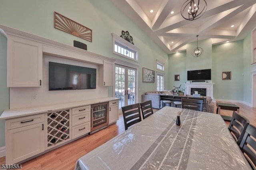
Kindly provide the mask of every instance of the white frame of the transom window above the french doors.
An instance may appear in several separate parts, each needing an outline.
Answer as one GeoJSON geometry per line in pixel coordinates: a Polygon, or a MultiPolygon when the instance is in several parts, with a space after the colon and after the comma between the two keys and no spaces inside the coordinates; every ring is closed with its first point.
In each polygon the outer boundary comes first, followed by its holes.
{"type": "Polygon", "coordinates": [[[136,47],[135,45],[133,45],[132,43],[124,40],[123,38],[121,38],[120,36],[118,36],[114,33],[112,33],[111,35],[113,37],[113,53],[138,62],[138,51],[140,49],[138,47],[136,47]],[[127,49],[128,51],[134,53],[134,59],[131,57],[128,57],[126,55],[123,55],[122,53],[116,52],[115,45],[118,45],[119,47],[122,47],[122,48],[127,49]]]}

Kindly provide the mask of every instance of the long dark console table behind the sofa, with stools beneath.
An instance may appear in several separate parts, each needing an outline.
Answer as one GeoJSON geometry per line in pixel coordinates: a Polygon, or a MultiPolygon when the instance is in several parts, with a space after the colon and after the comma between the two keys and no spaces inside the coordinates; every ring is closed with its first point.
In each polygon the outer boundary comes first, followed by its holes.
{"type": "Polygon", "coordinates": [[[202,97],[193,97],[193,96],[185,96],[185,95],[170,95],[170,94],[159,94],[159,108],[161,108],[161,101],[162,100],[171,100],[171,101],[181,101],[182,98],[185,99],[200,99],[200,100],[204,100],[204,104],[203,104],[203,111],[206,112],[206,97],[202,96],[202,97]]]}

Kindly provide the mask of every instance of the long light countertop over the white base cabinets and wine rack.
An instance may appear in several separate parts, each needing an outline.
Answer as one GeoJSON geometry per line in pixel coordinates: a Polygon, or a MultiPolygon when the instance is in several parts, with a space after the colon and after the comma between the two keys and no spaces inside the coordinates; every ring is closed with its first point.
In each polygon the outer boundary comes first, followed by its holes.
{"type": "Polygon", "coordinates": [[[116,98],[116,97],[105,97],[105,98],[100,98],[100,99],[70,101],[70,102],[66,102],[66,103],[58,103],[58,104],[52,104],[52,105],[42,105],[42,106],[35,106],[35,107],[8,109],[8,110],[4,110],[4,112],[0,116],[0,120],[24,117],[24,116],[29,116],[29,115],[36,115],[36,114],[40,114],[40,113],[48,113],[48,112],[52,112],[52,111],[69,109],[69,108],[74,108],[74,107],[81,107],[81,106],[85,106],[85,105],[92,105],[92,104],[96,104],[96,103],[114,101],[114,100],[118,100],[118,99],[119,98],[116,98]]]}

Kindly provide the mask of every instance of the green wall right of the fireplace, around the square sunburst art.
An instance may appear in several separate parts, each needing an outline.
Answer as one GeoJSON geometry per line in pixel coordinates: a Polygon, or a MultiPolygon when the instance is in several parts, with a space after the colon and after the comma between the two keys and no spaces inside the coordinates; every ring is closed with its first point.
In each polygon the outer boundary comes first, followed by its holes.
{"type": "Polygon", "coordinates": [[[243,40],[212,46],[212,82],[215,99],[243,100],[243,40]],[[222,71],[232,71],[222,80],[222,71]]]}

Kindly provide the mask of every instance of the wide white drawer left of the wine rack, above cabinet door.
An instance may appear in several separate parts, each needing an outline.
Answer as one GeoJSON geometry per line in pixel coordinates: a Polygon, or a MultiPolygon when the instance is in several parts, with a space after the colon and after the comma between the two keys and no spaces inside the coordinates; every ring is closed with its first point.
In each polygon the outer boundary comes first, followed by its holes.
{"type": "Polygon", "coordinates": [[[9,119],[5,121],[5,125],[6,125],[6,130],[10,130],[10,129],[24,127],[28,125],[34,125],[36,123],[41,123],[41,122],[44,122],[44,114],[9,119]]]}

